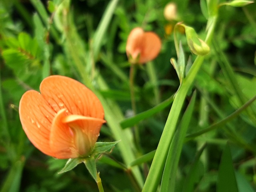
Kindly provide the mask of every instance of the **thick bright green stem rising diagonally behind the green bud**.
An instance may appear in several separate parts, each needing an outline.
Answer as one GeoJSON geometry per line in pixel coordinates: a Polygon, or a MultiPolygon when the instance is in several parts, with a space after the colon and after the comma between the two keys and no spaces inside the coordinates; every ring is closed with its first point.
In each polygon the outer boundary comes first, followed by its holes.
{"type": "MultiPolygon", "coordinates": [[[[211,20],[208,20],[208,22],[210,21],[211,24],[206,36],[207,44],[211,42],[214,28],[216,25],[216,20],[217,20],[216,16],[213,17],[211,20]]],[[[186,78],[184,78],[183,83],[180,86],[180,89],[178,90],[174,98],[172,108],[170,110],[166,124],[164,126],[164,130],[162,132],[162,136],[160,138],[158,147],[156,149],[156,154],[151,164],[150,171],[148,173],[148,177],[146,179],[142,192],[155,192],[158,187],[158,184],[161,179],[162,170],[164,168],[164,164],[168,154],[168,150],[169,150],[172,138],[174,136],[174,132],[176,130],[178,118],[180,116],[180,112],[181,112],[184,100],[186,98],[186,94],[188,93],[188,90],[190,90],[194,82],[194,79],[198,71],[200,70],[200,67],[203,61],[204,61],[204,56],[197,56],[196,60],[194,61],[194,64],[190,68],[190,72],[188,73],[186,78]]]]}

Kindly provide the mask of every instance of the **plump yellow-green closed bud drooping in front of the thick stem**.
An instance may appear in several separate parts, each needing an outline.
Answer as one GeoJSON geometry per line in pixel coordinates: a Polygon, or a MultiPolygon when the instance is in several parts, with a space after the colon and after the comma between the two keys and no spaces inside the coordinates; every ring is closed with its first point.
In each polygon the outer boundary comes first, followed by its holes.
{"type": "Polygon", "coordinates": [[[186,38],[188,46],[192,53],[196,55],[206,55],[210,52],[210,47],[196,34],[196,31],[192,27],[188,27],[182,24],[185,28],[186,38]]]}

